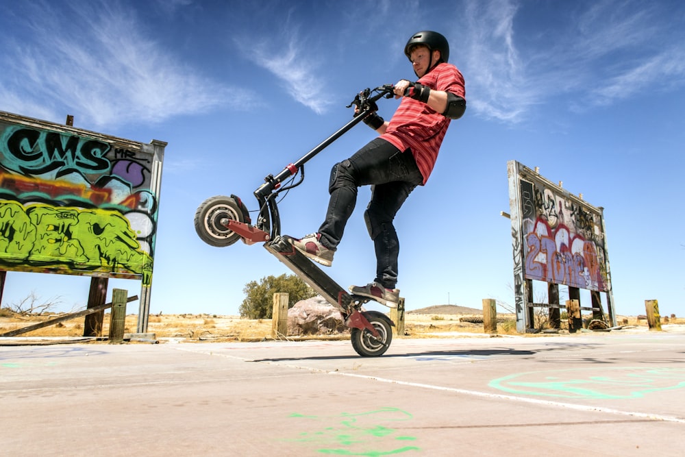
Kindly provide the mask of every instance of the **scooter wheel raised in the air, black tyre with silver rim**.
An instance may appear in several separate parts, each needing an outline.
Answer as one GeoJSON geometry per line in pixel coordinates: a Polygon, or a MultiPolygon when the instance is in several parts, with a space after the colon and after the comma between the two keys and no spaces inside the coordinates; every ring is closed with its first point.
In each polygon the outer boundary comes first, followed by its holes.
{"type": "Polygon", "coordinates": [[[195,232],[210,246],[230,246],[240,239],[240,235],[228,228],[228,221],[245,222],[244,210],[245,207],[233,197],[210,197],[195,212],[195,232]]]}

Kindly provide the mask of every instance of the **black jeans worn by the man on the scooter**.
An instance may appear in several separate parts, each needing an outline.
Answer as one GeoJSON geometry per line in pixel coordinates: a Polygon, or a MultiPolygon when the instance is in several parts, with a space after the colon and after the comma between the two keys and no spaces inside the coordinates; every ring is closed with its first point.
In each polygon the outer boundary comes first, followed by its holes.
{"type": "Polygon", "coordinates": [[[376,254],[376,277],[386,288],[397,284],[399,239],[393,219],[397,210],[423,176],[408,149],[400,151],[386,140],[376,138],[351,158],[333,166],[326,220],[319,228],[321,243],[335,250],[345,232],[347,219],[357,201],[357,188],[371,185],[371,201],[364,220],[376,254]]]}

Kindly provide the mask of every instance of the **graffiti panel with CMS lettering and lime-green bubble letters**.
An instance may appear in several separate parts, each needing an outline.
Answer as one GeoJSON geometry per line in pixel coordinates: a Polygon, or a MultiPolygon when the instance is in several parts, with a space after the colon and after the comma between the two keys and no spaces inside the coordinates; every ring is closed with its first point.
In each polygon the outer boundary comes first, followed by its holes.
{"type": "Polygon", "coordinates": [[[0,269],[150,284],[165,146],[0,112],[0,269]]]}

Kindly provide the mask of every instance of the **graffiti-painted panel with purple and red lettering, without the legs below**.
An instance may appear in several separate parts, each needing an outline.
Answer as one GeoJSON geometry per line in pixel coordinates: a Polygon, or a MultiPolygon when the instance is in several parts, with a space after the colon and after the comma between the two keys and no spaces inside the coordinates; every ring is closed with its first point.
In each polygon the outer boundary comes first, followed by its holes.
{"type": "MultiPolygon", "coordinates": [[[[608,291],[608,259],[603,215],[580,197],[518,165],[510,175],[519,192],[512,199],[516,214],[515,254],[523,277],[590,291],[608,291]]],[[[511,186],[511,184],[510,184],[511,186]]],[[[512,218],[512,227],[513,226],[512,218]]]]}

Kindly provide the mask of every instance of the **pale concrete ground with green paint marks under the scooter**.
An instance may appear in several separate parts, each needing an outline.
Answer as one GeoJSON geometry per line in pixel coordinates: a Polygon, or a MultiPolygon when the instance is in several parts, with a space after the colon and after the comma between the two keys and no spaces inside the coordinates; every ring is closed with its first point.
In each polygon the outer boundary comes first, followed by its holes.
{"type": "Polygon", "coordinates": [[[682,456],[685,332],[0,347],[6,456],[682,456]]]}

